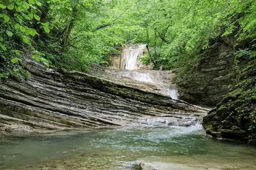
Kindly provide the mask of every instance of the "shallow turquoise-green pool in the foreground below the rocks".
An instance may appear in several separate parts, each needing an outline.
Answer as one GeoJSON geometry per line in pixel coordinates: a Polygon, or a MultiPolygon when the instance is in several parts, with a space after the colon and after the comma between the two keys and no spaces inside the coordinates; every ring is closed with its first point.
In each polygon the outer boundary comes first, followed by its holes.
{"type": "Polygon", "coordinates": [[[212,139],[192,127],[122,127],[1,136],[0,169],[138,169],[141,161],[256,167],[255,146],[212,139]]]}

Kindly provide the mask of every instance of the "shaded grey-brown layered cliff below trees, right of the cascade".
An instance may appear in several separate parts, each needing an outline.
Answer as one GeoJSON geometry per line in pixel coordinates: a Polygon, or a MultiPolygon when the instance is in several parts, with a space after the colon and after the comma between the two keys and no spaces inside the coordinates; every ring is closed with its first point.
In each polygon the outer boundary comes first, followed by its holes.
{"type": "MultiPolygon", "coordinates": [[[[227,38],[228,39],[228,38],[227,38]]],[[[216,41],[200,55],[193,73],[177,82],[180,99],[193,104],[215,106],[235,85],[234,48],[230,39],[216,41]]]]}

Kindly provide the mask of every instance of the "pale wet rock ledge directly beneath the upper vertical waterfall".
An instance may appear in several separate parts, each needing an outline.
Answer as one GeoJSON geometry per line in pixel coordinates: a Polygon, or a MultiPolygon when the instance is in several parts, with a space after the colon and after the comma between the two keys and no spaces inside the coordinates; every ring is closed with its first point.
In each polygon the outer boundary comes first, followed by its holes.
{"type": "Polygon", "coordinates": [[[164,96],[169,96],[168,90],[177,89],[173,83],[174,74],[172,71],[111,69],[91,64],[89,74],[120,85],[127,85],[134,89],[163,94],[164,96]]]}

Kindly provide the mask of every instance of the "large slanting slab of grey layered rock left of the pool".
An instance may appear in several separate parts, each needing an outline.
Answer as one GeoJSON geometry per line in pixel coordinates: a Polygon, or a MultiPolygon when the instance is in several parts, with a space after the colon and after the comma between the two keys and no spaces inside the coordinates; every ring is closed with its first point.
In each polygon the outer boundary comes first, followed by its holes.
{"type": "Polygon", "coordinates": [[[28,81],[0,84],[0,129],[84,129],[131,125],[141,117],[197,118],[207,110],[77,71],[54,71],[31,60],[28,81]],[[18,127],[16,127],[18,126],[18,127]],[[21,128],[22,129],[22,128],[21,128]]]}

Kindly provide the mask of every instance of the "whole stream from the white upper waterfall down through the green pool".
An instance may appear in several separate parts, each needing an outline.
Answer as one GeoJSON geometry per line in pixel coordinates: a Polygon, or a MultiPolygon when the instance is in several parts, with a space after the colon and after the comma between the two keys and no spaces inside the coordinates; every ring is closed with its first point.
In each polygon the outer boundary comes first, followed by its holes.
{"type": "MultiPolygon", "coordinates": [[[[140,68],[138,57],[143,57],[143,48],[145,46],[141,45],[137,48],[136,46],[125,48],[123,56],[126,60],[123,65],[129,71],[122,76],[151,83],[162,95],[179,99],[177,89],[161,80],[160,74],[150,75],[132,71],[140,68]]],[[[134,106],[136,105],[132,105],[134,106]]],[[[102,105],[104,109],[108,109],[107,107],[108,105],[102,105]]],[[[108,111],[115,113],[116,110],[108,111]]],[[[130,110],[131,113],[132,111],[130,110]]],[[[97,110],[93,110],[92,113],[97,113],[97,110]]],[[[102,117],[100,113],[97,116],[102,117]]],[[[157,112],[150,112],[153,113],[157,112]]],[[[123,116],[126,113],[122,110],[118,114],[123,116]]],[[[115,114],[111,114],[111,117],[114,116],[115,114]]],[[[143,115],[138,118],[138,122],[129,126],[126,124],[124,127],[85,128],[83,131],[59,131],[47,134],[0,133],[0,169],[136,170],[140,169],[141,162],[158,162],[164,167],[160,168],[162,170],[255,169],[254,146],[243,142],[212,139],[205,134],[200,119],[188,113],[179,113],[179,117],[183,117],[179,118],[181,123],[178,122],[177,117],[171,115],[154,118],[143,115]]],[[[119,119],[118,121],[122,121],[122,117],[119,119]]]]}

